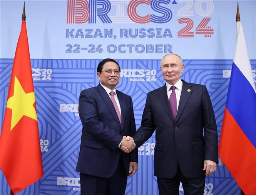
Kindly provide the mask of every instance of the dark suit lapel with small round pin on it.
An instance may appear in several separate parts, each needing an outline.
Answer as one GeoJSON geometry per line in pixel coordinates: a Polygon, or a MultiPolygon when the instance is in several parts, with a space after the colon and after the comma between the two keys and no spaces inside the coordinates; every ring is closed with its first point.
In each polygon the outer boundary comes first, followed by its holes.
{"type": "Polygon", "coordinates": [[[184,80],[182,80],[182,82],[183,82],[183,84],[182,84],[181,98],[179,100],[179,107],[178,107],[178,111],[177,111],[176,121],[181,116],[181,113],[184,110],[184,107],[185,107],[191,93],[193,92],[191,84],[185,82],[184,80]]]}

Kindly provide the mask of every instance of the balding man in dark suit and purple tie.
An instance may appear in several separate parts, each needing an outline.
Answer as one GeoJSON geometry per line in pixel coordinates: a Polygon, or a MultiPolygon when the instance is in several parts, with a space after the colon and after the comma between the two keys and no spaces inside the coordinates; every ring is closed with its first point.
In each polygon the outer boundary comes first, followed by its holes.
{"type": "Polygon", "coordinates": [[[206,86],[181,80],[183,70],[180,56],[162,58],[166,84],[147,94],[141,127],[133,136],[139,147],[156,130],[154,175],[160,195],[179,195],[180,182],[185,195],[202,195],[205,176],[212,174],[218,163],[211,99],[206,86]]]}

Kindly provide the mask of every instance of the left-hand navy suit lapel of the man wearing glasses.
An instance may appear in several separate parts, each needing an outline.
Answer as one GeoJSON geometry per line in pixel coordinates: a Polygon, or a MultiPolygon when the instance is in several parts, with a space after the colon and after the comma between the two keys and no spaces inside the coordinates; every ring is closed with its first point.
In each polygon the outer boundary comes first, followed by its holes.
{"type": "Polygon", "coordinates": [[[100,84],[97,86],[97,90],[99,91],[99,94],[100,94],[102,100],[105,102],[105,104],[109,108],[109,111],[111,112],[111,114],[114,117],[115,121],[117,121],[117,123],[121,127],[120,121],[119,121],[117,113],[115,111],[115,107],[114,107],[114,105],[113,105],[113,103],[112,103],[112,101],[111,101],[111,99],[109,97],[109,94],[107,94],[105,89],[100,84]]]}

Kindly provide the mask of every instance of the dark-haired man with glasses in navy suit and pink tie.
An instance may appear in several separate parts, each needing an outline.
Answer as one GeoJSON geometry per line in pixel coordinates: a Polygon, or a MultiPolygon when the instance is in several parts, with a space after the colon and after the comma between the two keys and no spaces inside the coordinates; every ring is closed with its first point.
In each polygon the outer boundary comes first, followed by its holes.
{"type": "Polygon", "coordinates": [[[82,195],[124,195],[127,176],[138,169],[138,150],[132,139],[136,132],[132,99],[115,89],[120,66],[104,59],[97,67],[100,84],[85,89],[79,97],[82,122],[80,154],[76,171],[80,172],[82,195]],[[130,152],[120,150],[125,146],[130,152]]]}

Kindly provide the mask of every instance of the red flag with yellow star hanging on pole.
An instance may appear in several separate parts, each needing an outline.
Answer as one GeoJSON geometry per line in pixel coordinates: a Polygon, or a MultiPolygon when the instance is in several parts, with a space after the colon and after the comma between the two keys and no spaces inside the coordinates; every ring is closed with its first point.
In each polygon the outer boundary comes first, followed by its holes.
{"type": "Polygon", "coordinates": [[[18,38],[0,136],[0,168],[13,193],[43,175],[25,21],[18,38]]]}

